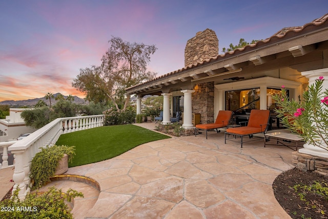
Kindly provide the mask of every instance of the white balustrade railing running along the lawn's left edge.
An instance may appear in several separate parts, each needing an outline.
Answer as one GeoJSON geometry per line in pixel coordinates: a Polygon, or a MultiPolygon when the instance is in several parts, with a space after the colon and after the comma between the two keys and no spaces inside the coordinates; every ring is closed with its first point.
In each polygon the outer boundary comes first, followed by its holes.
{"type": "MultiPolygon", "coordinates": [[[[56,118],[56,120],[23,138],[23,140],[6,147],[6,150],[8,148],[15,156],[15,170],[13,174],[15,185],[13,191],[19,188],[19,197],[25,197],[27,192],[29,192],[29,173],[32,158],[41,148],[56,144],[61,134],[103,126],[103,123],[104,115],[56,118]]],[[[8,157],[6,158],[8,159],[8,157]]]]}

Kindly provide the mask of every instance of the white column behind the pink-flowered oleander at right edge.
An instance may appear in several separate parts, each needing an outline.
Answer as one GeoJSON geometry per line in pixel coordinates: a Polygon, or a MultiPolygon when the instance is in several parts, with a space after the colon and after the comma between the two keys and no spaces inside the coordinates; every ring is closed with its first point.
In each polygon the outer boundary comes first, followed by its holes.
{"type": "MultiPolygon", "coordinates": [[[[328,68],[317,69],[312,71],[304,71],[301,72],[301,74],[309,78],[309,86],[315,84],[316,79],[318,79],[320,76],[323,76],[324,81],[322,84],[322,91],[328,89],[328,68]]],[[[322,106],[325,107],[324,105],[322,106]]],[[[327,147],[327,145],[323,145],[323,146],[327,147]]],[[[305,143],[303,145],[303,148],[299,149],[298,152],[311,154],[315,156],[328,157],[327,150],[308,143],[305,143]]]]}

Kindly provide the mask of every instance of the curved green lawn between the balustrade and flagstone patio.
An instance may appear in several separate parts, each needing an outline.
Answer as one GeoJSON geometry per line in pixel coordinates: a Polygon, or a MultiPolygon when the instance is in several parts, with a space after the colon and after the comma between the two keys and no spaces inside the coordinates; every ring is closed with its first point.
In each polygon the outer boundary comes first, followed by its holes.
{"type": "Polygon", "coordinates": [[[132,148],[165,138],[134,125],[102,126],[60,135],[56,145],[75,146],[76,155],[69,167],[105,161],[132,148]]]}

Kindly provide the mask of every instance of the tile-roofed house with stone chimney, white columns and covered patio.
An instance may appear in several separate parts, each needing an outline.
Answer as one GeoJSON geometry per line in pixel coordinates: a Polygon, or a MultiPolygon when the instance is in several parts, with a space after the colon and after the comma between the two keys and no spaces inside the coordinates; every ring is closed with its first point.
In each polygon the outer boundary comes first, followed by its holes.
{"type": "Polygon", "coordinates": [[[200,113],[201,123],[213,123],[219,110],[274,112],[271,94],[280,92],[281,86],[289,90],[290,98],[302,99],[309,71],[328,76],[328,14],[222,55],[214,31],[198,32],[187,42],[184,68],[126,91],[138,96],[137,113],[141,97],[163,95],[162,123],[170,123],[171,115],[183,111],[182,126],[190,128],[192,113],[200,113]]]}

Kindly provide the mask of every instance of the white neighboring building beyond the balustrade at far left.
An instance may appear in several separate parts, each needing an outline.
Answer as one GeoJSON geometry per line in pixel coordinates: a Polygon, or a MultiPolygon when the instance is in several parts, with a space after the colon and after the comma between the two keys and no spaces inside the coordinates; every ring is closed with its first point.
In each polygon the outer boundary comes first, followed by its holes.
{"type": "Polygon", "coordinates": [[[20,114],[25,108],[10,108],[6,119],[0,120],[0,142],[17,140],[21,134],[32,133],[36,129],[25,126],[25,122],[20,114]]]}

